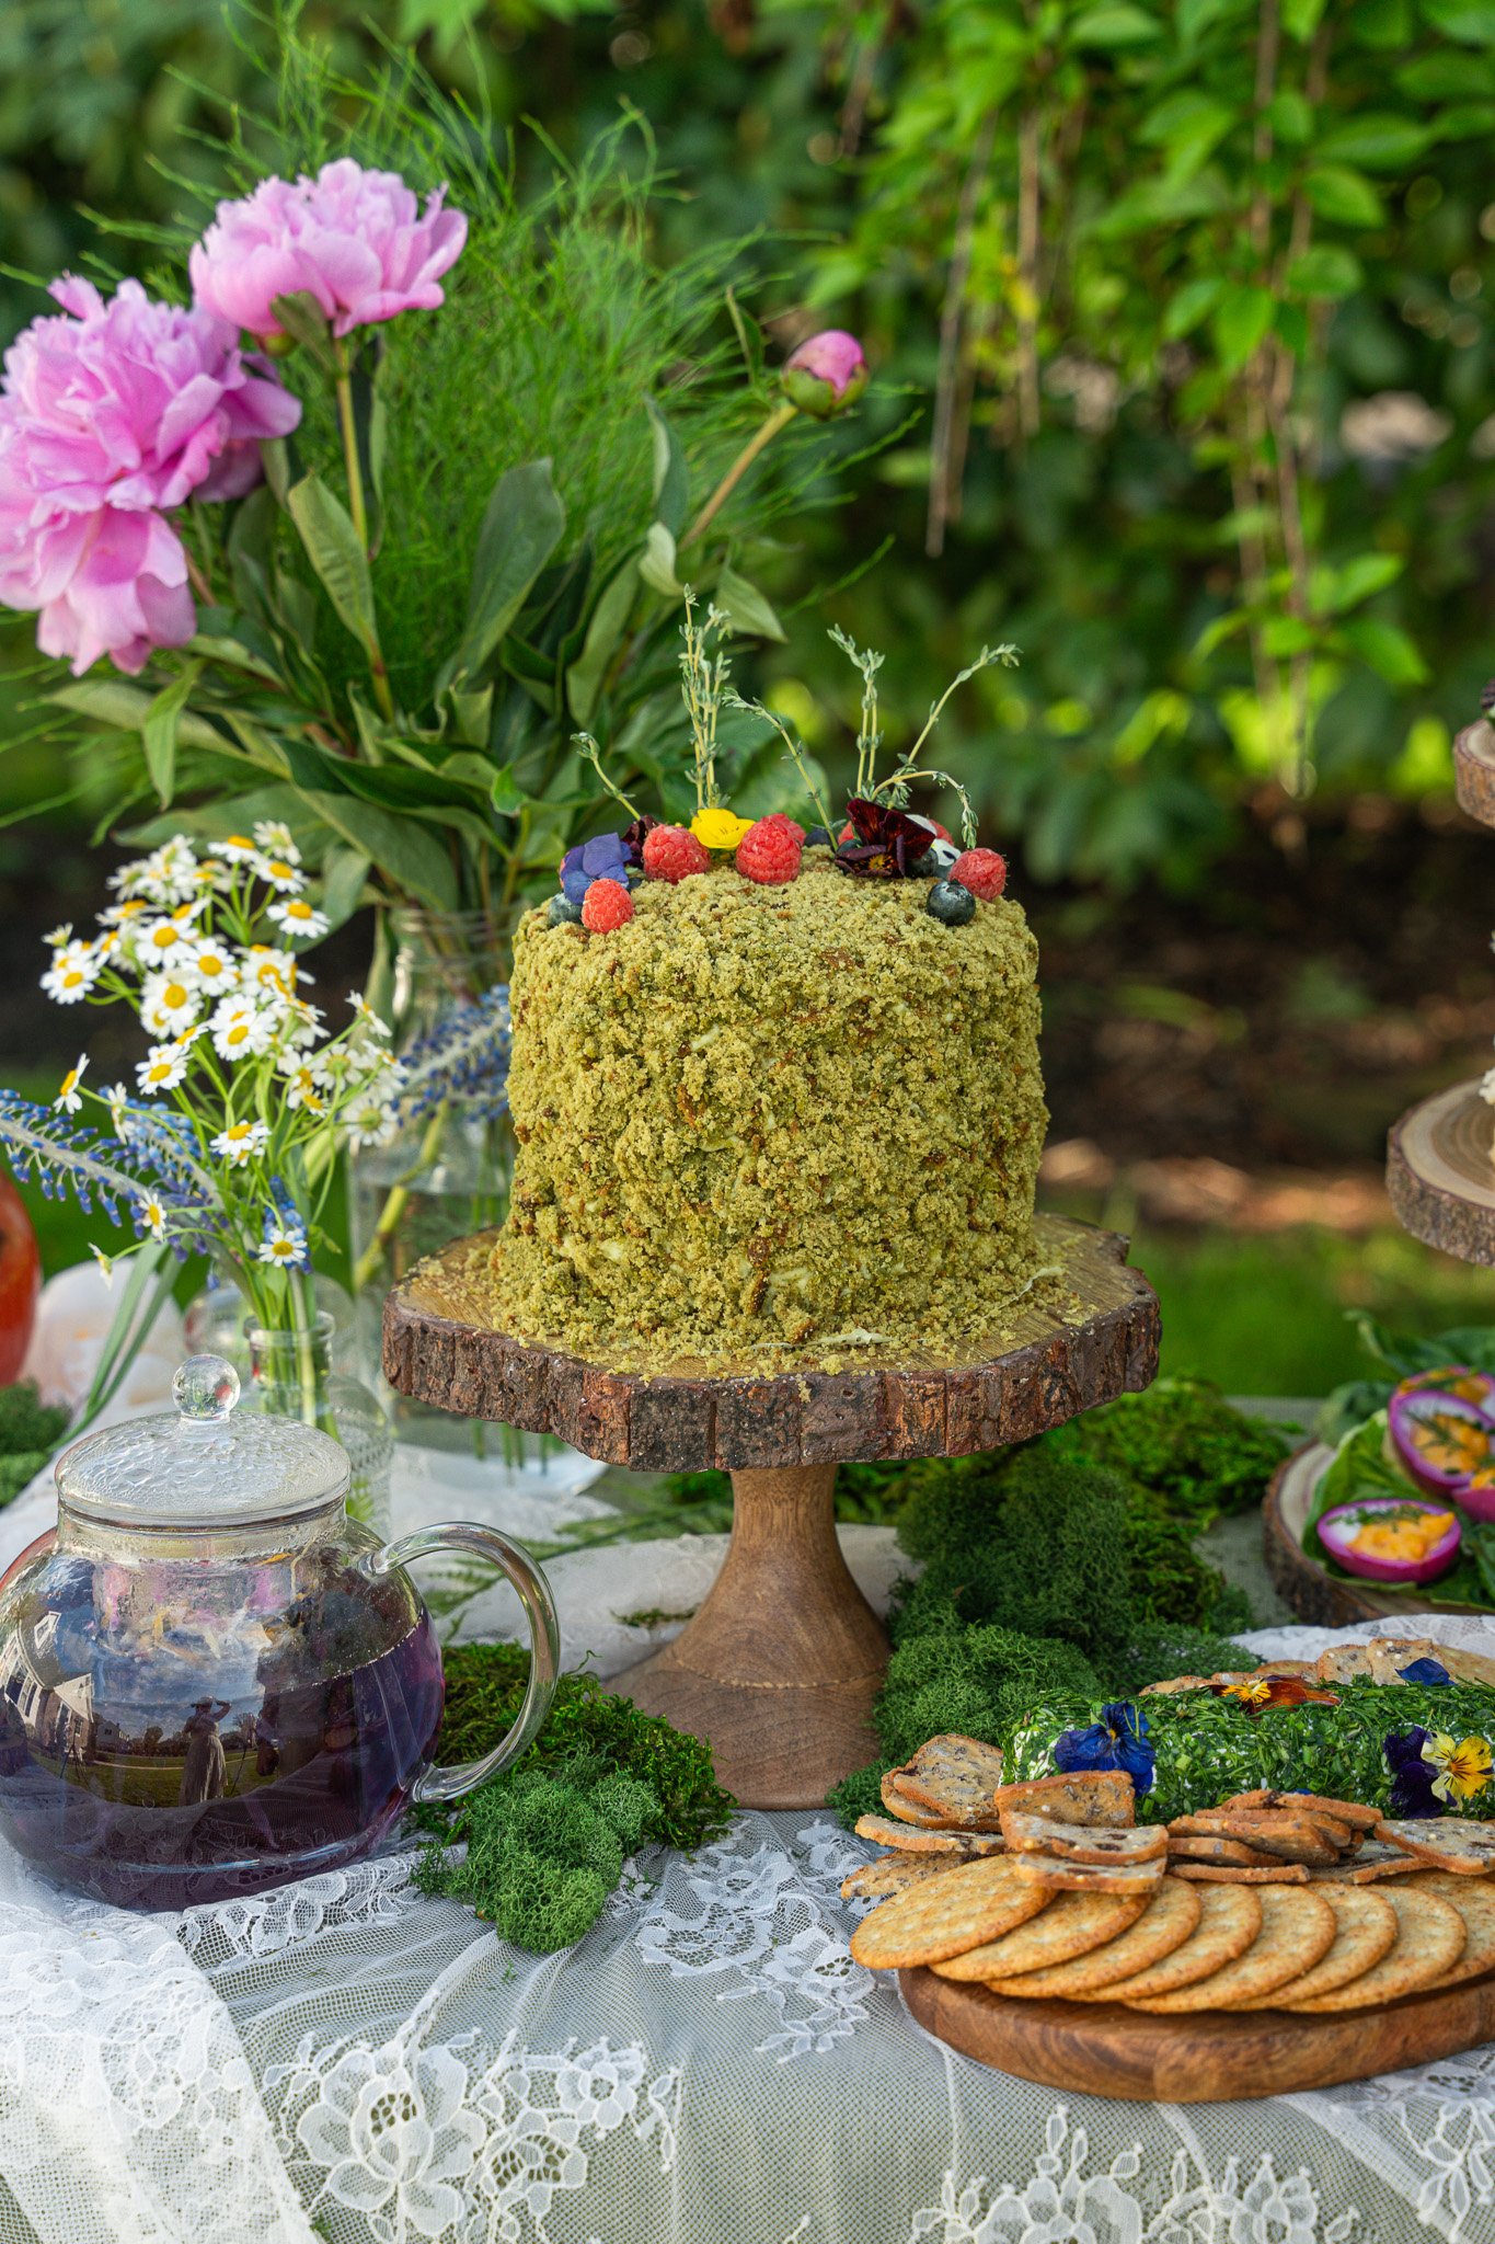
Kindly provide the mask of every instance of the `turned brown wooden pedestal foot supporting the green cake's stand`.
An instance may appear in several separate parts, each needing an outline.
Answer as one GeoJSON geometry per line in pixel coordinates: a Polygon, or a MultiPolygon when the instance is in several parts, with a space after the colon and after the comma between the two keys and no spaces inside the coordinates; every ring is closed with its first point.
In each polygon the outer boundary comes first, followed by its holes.
{"type": "Polygon", "coordinates": [[[733,1472],[733,1539],[675,1643],[612,1690],[711,1739],[749,1809],[811,1809],[879,1750],[888,1634],[836,1542],[836,1468],[733,1472]]]}

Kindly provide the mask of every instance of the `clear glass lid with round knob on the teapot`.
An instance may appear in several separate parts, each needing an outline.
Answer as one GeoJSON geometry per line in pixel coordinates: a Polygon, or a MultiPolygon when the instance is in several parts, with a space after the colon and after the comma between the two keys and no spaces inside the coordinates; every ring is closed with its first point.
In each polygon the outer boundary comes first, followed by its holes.
{"type": "Polygon", "coordinates": [[[213,1528],[321,1510],[343,1497],[347,1452],[298,1418],[235,1411],[222,1355],[188,1355],[175,1411],[83,1434],[56,1463],[58,1503],[132,1528],[213,1528]]]}

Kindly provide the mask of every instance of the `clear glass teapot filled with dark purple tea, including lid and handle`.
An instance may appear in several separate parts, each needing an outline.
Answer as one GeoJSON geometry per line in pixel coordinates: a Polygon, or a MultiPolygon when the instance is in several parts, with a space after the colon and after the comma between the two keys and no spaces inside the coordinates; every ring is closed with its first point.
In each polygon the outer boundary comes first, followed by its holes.
{"type": "Polygon", "coordinates": [[[0,1578],[0,1829],[103,1901],[175,1910],[338,1869],[412,1800],[455,1800],[531,1741],[556,1690],[545,1575],[482,1526],[401,1542],[347,1517],[347,1456],[240,1411],[193,1355],[175,1416],[85,1434],[58,1524],[0,1578]],[[489,1755],[435,1768],[442,1654],[406,1566],[489,1560],[531,1634],[489,1755]]]}

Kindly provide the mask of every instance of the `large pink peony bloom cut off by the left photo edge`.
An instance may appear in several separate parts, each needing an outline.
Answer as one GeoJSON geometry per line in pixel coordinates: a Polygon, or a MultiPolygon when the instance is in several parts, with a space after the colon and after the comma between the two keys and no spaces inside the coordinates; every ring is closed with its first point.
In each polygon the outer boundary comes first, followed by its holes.
{"type": "Polygon", "coordinates": [[[152,303],[139,280],[105,303],[52,285],[0,384],[0,601],[40,610],[38,646],[74,673],[99,655],[139,671],[195,631],[186,552],[164,512],[231,498],[260,473],[260,438],[300,420],[289,390],[208,312],[152,303]]]}

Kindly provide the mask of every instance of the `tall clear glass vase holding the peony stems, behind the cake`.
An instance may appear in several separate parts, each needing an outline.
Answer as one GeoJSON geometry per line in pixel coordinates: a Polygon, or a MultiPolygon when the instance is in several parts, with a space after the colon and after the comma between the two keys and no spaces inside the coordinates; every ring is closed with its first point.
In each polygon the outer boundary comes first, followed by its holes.
{"type": "MultiPolygon", "coordinates": [[[[390,994],[374,1010],[390,1019],[390,1050],[421,1064],[439,1055],[459,1017],[502,987],[509,967],[507,927],[482,911],[437,913],[394,909],[390,994]]],[[[567,1497],[605,1468],[551,1434],[455,1418],[397,1396],[381,1373],[383,1299],[424,1257],[453,1239],[495,1230],[509,1214],[513,1126],[504,1104],[504,1061],[482,1082],[428,1095],[397,1138],[361,1147],[347,1160],[347,1232],[354,1263],[359,1362],[386,1403],[399,1443],[459,1452],[482,1463],[493,1495],[567,1497]]],[[[473,1503],[473,1488],[464,1503],[473,1503]]]]}

